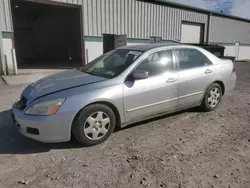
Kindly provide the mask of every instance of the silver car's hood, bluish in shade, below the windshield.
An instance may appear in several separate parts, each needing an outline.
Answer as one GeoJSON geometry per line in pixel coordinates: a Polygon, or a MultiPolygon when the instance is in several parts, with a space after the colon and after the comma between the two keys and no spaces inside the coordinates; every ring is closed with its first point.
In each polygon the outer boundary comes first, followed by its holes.
{"type": "Polygon", "coordinates": [[[53,74],[30,84],[23,91],[23,95],[30,101],[43,95],[104,80],[107,80],[107,78],[93,76],[80,70],[72,69],[53,74]]]}

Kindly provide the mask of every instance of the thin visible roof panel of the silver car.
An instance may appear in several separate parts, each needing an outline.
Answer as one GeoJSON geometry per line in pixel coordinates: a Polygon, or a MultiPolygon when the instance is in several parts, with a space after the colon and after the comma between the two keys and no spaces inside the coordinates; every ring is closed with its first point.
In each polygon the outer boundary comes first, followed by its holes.
{"type": "Polygon", "coordinates": [[[189,45],[183,45],[178,43],[160,43],[160,44],[142,44],[142,45],[131,45],[131,46],[123,46],[119,49],[127,49],[127,50],[137,50],[137,51],[148,51],[154,48],[160,48],[160,47],[191,47],[189,45]]]}

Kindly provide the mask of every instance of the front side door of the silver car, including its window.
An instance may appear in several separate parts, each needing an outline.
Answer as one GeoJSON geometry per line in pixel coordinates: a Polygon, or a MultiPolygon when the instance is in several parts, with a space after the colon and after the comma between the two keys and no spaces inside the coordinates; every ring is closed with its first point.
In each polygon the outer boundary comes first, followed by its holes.
{"type": "Polygon", "coordinates": [[[128,122],[167,111],[178,105],[178,73],[171,50],[158,51],[145,58],[135,70],[148,72],[146,79],[132,74],[124,82],[124,108],[128,122]]]}

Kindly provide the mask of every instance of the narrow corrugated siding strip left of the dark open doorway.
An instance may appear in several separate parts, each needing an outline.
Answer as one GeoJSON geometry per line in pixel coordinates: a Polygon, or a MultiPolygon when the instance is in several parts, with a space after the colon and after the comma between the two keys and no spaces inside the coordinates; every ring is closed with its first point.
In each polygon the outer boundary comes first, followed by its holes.
{"type": "Polygon", "coordinates": [[[0,31],[13,31],[10,0],[0,0],[0,31]]]}

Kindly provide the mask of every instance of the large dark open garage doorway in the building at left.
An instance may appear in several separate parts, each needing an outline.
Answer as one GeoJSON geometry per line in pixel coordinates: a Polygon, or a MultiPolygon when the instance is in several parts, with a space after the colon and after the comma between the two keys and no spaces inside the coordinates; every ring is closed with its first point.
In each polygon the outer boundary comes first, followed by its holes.
{"type": "Polygon", "coordinates": [[[19,69],[82,65],[80,6],[11,0],[11,7],[19,69]]]}

